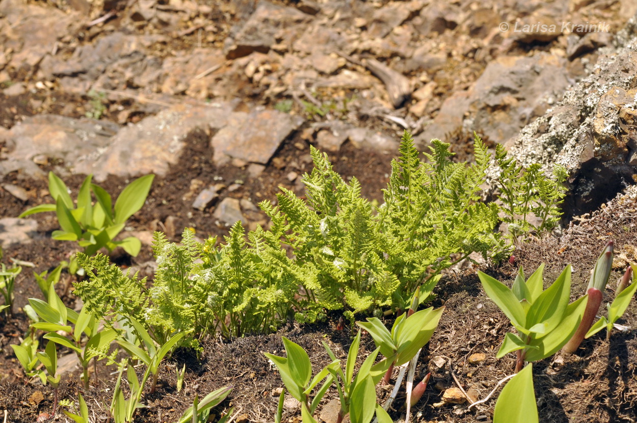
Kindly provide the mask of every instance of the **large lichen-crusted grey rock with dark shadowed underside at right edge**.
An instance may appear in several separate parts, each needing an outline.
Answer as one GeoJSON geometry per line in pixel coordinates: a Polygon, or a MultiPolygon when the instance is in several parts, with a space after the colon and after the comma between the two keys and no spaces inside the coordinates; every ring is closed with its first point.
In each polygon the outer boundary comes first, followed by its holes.
{"type": "Polygon", "coordinates": [[[637,15],[587,78],[509,143],[522,164],[569,171],[570,213],[594,210],[637,173],[637,15]]]}

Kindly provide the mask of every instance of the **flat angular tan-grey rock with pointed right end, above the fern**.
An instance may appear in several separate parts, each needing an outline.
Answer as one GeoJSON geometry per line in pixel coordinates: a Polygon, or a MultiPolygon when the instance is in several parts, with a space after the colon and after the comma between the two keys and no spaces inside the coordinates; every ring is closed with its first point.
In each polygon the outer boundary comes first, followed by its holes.
{"type": "Polygon", "coordinates": [[[228,124],[210,141],[215,150],[213,159],[217,164],[230,157],[266,164],[282,141],[302,122],[303,118],[278,110],[234,112],[228,124]]]}

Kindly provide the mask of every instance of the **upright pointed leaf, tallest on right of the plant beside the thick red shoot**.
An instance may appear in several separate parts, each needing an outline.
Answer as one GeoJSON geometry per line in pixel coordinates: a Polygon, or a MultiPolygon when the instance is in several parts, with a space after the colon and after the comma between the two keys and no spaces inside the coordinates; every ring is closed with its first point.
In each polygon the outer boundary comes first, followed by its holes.
{"type": "Polygon", "coordinates": [[[536,332],[541,338],[557,327],[571,296],[571,266],[566,266],[557,280],[533,302],[526,316],[526,327],[543,324],[544,330],[536,332]]]}

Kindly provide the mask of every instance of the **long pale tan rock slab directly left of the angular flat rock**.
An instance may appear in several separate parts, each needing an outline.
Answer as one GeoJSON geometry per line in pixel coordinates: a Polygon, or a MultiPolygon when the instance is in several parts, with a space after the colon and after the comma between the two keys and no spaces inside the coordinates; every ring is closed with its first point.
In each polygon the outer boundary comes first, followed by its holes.
{"type": "Polygon", "coordinates": [[[94,173],[97,181],[103,181],[107,175],[124,178],[148,173],[166,175],[169,166],[178,162],[183,139],[191,131],[222,127],[229,114],[227,105],[177,104],[120,129],[103,152],[80,155],[75,172],[94,173]]]}

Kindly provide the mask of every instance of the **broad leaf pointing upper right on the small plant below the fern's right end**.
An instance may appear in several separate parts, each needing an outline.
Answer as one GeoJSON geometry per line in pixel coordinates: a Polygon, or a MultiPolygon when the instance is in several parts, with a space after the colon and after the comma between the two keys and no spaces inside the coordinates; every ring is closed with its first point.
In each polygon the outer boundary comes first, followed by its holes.
{"type": "Polygon", "coordinates": [[[433,307],[413,313],[404,320],[403,326],[398,329],[396,337],[396,365],[400,366],[410,361],[414,355],[429,342],[433,335],[445,306],[433,309],[433,307]]]}

